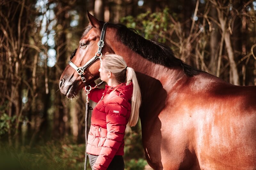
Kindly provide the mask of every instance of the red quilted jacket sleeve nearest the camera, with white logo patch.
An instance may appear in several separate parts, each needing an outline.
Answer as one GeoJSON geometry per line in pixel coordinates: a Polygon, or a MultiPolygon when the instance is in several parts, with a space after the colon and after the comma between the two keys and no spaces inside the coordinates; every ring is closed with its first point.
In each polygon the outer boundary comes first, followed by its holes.
{"type": "Polygon", "coordinates": [[[93,168],[105,170],[114,158],[124,138],[127,109],[116,96],[106,105],[107,139],[100,151],[93,168]]]}

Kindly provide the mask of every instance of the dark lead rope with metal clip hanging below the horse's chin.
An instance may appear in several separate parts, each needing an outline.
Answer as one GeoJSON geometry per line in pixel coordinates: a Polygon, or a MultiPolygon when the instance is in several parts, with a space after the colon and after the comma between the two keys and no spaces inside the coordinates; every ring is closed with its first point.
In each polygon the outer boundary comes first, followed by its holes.
{"type": "Polygon", "coordinates": [[[87,126],[88,126],[88,118],[89,118],[89,110],[93,110],[92,107],[90,106],[90,103],[89,103],[89,93],[92,89],[96,89],[96,88],[99,88],[100,84],[102,84],[103,81],[101,81],[99,84],[95,85],[94,87],[91,87],[89,85],[89,89],[87,89],[87,86],[85,85],[85,91],[86,91],[86,103],[85,103],[85,158],[84,158],[84,170],[87,169],[87,152],[86,152],[86,148],[87,148],[87,139],[88,139],[88,136],[87,136],[87,126]]]}

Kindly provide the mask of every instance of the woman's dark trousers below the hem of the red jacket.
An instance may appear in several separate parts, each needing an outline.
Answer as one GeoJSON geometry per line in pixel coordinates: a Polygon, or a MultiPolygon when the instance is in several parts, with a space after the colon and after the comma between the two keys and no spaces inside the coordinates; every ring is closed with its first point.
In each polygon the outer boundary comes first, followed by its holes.
{"type": "MultiPolygon", "coordinates": [[[[91,167],[96,162],[98,156],[88,154],[91,167]]],[[[124,159],[122,155],[116,155],[110,162],[107,170],[124,170],[124,159]]]]}

